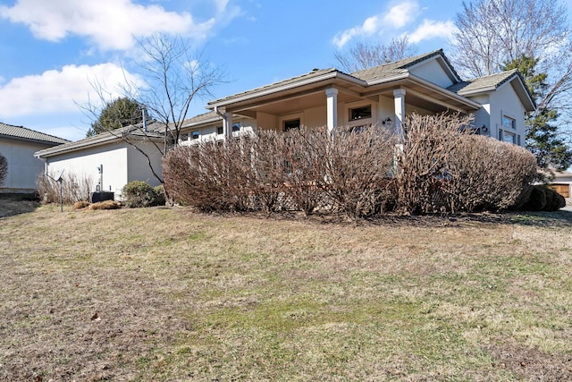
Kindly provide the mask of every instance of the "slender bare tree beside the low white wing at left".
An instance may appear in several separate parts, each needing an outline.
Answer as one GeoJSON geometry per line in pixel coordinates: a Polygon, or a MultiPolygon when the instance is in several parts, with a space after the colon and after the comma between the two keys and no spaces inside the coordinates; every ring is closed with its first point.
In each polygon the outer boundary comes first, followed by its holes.
{"type": "MultiPolygon", "coordinates": [[[[147,130],[147,118],[142,117],[144,123],[123,125],[110,133],[146,157],[152,174],[157,181],[164,183],[152,166],[152,157],[157,154],[164,157],[169,149],[178,145],[181,128],[189,116],[192,102],[195,98],[212,96],[212,88],[225,81],[225,76],[204,55],[194,52],[189,41],[181,36],[156,33],[137,42],[141,57],[134,70],[130,70],[130,78],[142,79],[145,85],[130,81],[125,75],[125,83],[120,85],[122,97],[137,102],[142,113],[153,115],[154,123],[147,130]],[[151,145],[140,145],[141,138],[151,142],[151,145]],[[157,140],[162,140],[162,143],[157,143],[157,140]]],[[[99,81],[92,82],[92,88],[99,102],[89,100],[80,108],[97,121],[114,97],[113,92],[105,89],[99,81]]],[[[122,124],[122,121],[113,124],[118,123],[122,124]]]]}

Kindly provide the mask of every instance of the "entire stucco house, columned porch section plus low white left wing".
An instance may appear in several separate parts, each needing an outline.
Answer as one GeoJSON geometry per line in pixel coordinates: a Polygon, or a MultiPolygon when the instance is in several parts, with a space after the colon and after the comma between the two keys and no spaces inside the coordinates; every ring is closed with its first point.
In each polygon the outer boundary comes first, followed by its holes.
{"type": "MultiPolygon", "coordinates": [[[[443,51],[436,50],[352,73],[315,69],[215,99],[206,105],[209,112],[183,122],[179,143],[225,140],[259,129],[288,131],[300,125],[334,130],[376,123],[402,133],[405,115],[461,113],[475,115],[476,132],[523,146],[525,115],[534,107],[517,71],[463,81],[443,51]]],[[[137,136],[138,131],[132,133],[137,136]]],[[[161,157],[150,137],[152,133],[139,137],[140,148],[155,152],[152,166],[160,174],[161,157]]],[[[117,193],[132,180],[156,184],[147,159],[111,133],[41,150],[36,156],[45,160],[48,172],[65,169],[96,180],[97,167],[103,165],[103,191],[117,193]]]]}

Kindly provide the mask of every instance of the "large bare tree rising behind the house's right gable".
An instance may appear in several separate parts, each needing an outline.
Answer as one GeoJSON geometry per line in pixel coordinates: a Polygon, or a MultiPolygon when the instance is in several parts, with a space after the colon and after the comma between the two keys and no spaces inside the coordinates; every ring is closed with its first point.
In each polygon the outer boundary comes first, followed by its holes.
{"type": "Polygon", "coordinates": [[[464,1],[455,20],[451,59],[461,75],[481,77],[501,72],[520,57],[538,58],[536,72],[548,77],[545,91],[535,99],[537,113],[557,110],[560,138],[572,143],[572,30],[567,14],[559,0],[464,1]]]}

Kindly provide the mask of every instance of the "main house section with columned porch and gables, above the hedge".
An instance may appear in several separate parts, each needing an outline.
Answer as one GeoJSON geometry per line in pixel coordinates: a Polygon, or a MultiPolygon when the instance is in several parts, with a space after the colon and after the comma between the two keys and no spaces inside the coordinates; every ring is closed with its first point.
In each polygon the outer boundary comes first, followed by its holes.
{"type": "Polygon", "coordinates": [[[525,145],[525,114],[534,110],[521,75],[501,72],[462,81],[442,50],[363,71],[312,72],[207,104],[211,113],[185,121],[183,141],[221,140],[257,129],[377,123],[402,133],[405,115],[475,115],[480,134],[525,145]]]}

